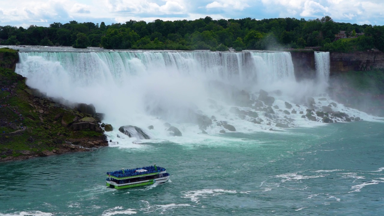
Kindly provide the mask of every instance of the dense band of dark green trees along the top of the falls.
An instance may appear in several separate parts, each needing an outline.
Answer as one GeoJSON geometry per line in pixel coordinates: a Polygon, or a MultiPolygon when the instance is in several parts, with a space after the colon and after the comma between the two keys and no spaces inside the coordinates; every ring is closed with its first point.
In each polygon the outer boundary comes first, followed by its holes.
{"type": "Polygon", "coordinates": [[[331,17],[220,19],[125,23],[52,23],[49,27],[0,26],[2,45],[103,47],[142,50],[277,50],[322,47],[324,51],[350,52],[376,48],[384,51],[384,26],[334,22],[331,17]],[[353,40],[337,40],[339,31],[364,33],[353,40]]]}

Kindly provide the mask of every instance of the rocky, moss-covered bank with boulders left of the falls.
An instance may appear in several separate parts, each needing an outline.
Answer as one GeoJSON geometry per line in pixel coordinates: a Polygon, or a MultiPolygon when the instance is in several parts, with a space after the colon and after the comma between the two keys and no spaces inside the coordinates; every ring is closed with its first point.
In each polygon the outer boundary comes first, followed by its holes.
{"type": "Polygon", "coordinates": [[[28,88],[17,62],[15,50],[0,49],[0,161],[108,145],[93,105],[71,108],[28,88]]]}

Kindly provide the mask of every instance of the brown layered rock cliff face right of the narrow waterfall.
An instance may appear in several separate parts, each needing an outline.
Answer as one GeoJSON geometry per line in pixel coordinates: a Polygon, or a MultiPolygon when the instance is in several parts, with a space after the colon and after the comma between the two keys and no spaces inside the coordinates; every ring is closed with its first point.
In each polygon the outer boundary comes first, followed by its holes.
{"type": "Polygon", "coordinates": [[[369,71],[384,68],[384,53],[382,52],[332,52],[330,56],[331,75],[346,71],[369,71]]]}

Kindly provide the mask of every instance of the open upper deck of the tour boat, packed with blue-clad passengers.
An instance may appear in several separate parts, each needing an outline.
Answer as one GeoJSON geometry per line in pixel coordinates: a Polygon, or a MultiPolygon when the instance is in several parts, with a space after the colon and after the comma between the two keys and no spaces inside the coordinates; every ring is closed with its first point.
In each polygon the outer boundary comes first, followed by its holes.
{"type": "Polygon", "coordinates": [[[166,169],[160,166],[156,166],[156,167],[144,166],[144,167],[135,168],[135,169],[121,169],[121,170],[116,170],[112,172],[107,172],[107,176],[110,178],[125,179],[125,178],[137,177],[137,176],[158,174],[163,171],[166,171],[166,169]]]}

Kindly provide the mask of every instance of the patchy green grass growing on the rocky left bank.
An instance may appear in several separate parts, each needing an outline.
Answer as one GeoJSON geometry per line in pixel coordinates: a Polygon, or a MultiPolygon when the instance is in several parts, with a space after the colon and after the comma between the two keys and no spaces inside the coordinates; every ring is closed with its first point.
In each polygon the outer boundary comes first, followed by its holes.
{"type": "MultiPolygon", "coordinates": [[[[2,53],[13,52],[10,50],[3,50],[5,49],[0,49],[0,55],[2,53]]],[[[7,59],[7,61],[9,60],[10,59],[7,59]]],[[[1,63],[2,61],[0,59],[0,64],[1,63]]],[[[11,133],[16,130],[9,127],[0,127],[0,134],[2,134],[3,131],[8,133],[0,135],[0,157],[16,157],[22,155],[22,152],[25,150],[30,151],[32,154],[39,154],[46,150],[51,151],[59,149],[65,141],[73,141],[76,140],[76,138],[91,138],[91,140],[92,138],[93,140],[101,139],[102,133],[89,131],[89,129],[84,131],[73,131],[70,130],[70,128],[61,126],[61,117],[55,119],[56,115],[63,114],[64,116],[74,117],[76,115],[83,116],[83,114],[74,110],[65,110],[64,108],[50,106],[50,101],[46,100],[46,105],[36,103],[38,101],[33,100],[33,96],[24,91],[24,89],[27,88],[25,80],[13,70],[0,67],[0,86],[10,88],[12,85],[15,85],[15,88],[13,88],[13,95],[10,95],[7,91],[0,91],[0,104],[10,105],[10,108],[0,108],[0,120],[5,119],[9,122],[18,119],[19,116],[13,112],[13,109],[15,109],[25,118],[15,125],[19,126],[20,123],[22,123],[23,126],[27,126],[28,129],[17,133],[11,133]],[[3,99],[3,97],[7,95],[10,96],[3,99]],[[44,112],[39,113],[39,110],[43,110],[44,112]]]]}

